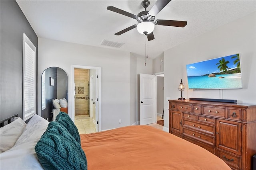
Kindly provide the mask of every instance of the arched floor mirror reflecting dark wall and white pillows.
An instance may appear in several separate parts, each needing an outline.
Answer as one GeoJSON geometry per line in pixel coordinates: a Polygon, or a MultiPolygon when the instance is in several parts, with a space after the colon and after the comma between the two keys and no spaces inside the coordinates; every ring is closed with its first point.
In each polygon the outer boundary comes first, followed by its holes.
{"type": "Polygon", "coordinates": [[[60,111],[68,113],[68,75],[59,67],[42,73],[42,117],[54,121],[60,111]]]}

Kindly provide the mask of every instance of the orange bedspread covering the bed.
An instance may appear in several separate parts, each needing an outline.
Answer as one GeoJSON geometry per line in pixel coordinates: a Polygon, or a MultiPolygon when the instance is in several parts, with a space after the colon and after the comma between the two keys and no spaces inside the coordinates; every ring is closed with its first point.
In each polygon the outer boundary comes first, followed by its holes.
{"type": "Polygon", "coordinates": [[[88,170],[230,170],[202,147],[146,125],[80,137],[88,170]]]}

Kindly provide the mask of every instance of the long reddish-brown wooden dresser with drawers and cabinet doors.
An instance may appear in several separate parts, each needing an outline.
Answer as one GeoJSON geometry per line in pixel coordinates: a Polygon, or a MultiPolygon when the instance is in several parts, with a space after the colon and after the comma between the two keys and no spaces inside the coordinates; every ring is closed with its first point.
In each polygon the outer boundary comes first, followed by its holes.
{"type": "Polygon", "coordinates": [[[234,170],[252,170],[254,104],[169,100],[169,132],[207,149],[234,170]]]}

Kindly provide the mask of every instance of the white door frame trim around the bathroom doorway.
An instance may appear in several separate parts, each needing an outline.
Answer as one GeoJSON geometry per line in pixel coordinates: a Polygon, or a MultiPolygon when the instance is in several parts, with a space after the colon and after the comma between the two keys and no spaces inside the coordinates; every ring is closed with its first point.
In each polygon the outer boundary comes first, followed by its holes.
{"type": "Polygon", "coordinates": [[[102,97],[101,97],[101,82],[102,82],[102,73],[101,73],[101,67],[94,67],[94,66],[82,66],[82,65],[71,65],[71,82],[72,82],[72,92],[69,97],[71,98],[71,119],[72,121],[75,120],[75,84],[74,84],[74,70],[75,68],[82,68],[82,69],[90,69],[90,70],[98,70],[98,131],[102,131],[102,115],[101,115],[101,108],[102,108],[102,97]]]}

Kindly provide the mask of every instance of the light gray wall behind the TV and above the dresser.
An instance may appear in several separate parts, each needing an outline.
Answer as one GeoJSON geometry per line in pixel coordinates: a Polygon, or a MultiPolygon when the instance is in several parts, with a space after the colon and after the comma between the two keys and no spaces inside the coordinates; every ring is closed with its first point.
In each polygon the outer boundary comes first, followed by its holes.
{"type": "MultiPolygon", "coordinates": [[[[256,14],[255,12],[222,25],[164,52],[164,98],[177,99],[180,79],[185,85],[184,98],[235,99],[256,104],[256,14]],[[188,90],[186,64],[240,53],[243,89],[188,90]]],[[[168,114],[168,102],[165,102],[168,114]]],[[[164,127],[169,120],[164,118],[164,127]]]]}

